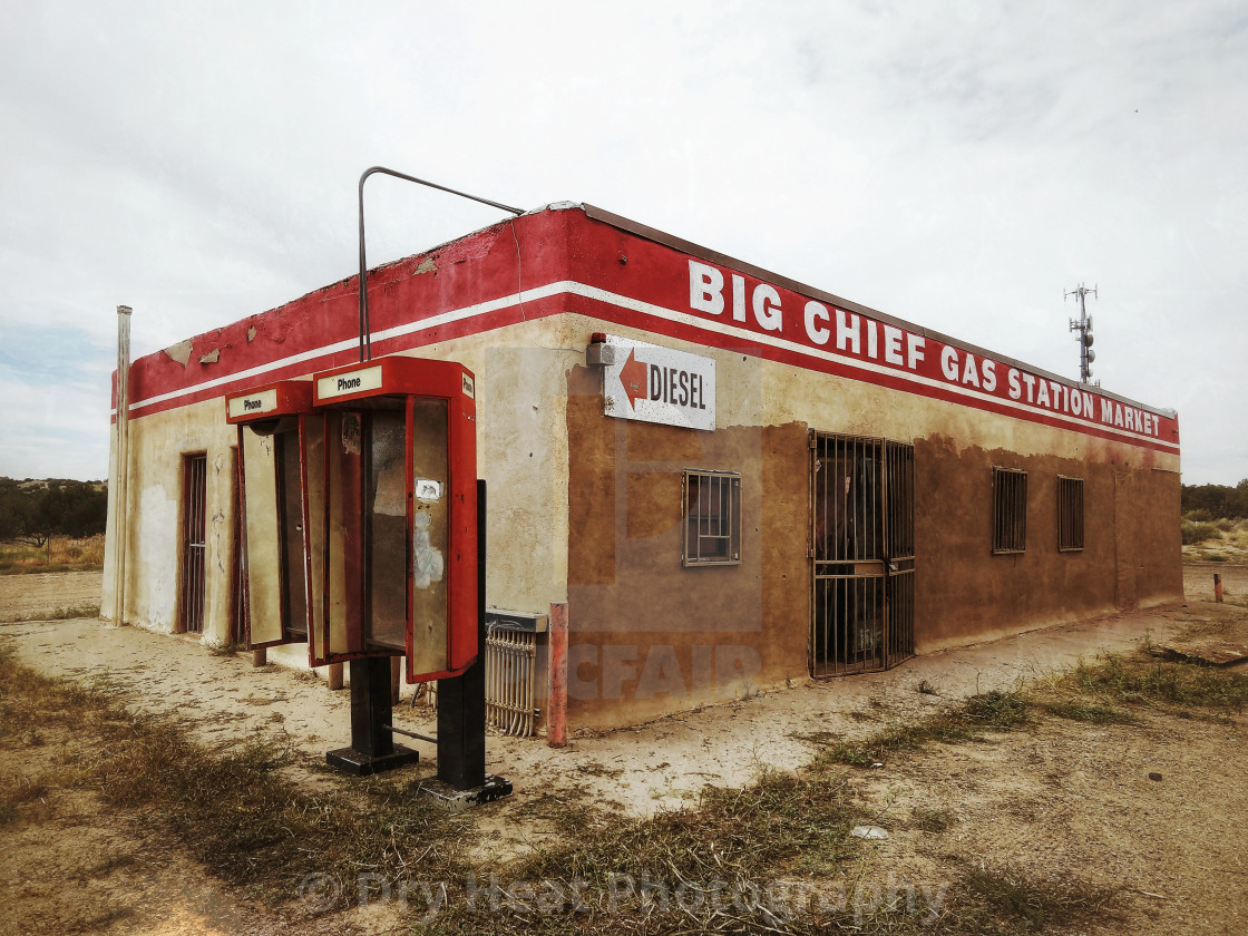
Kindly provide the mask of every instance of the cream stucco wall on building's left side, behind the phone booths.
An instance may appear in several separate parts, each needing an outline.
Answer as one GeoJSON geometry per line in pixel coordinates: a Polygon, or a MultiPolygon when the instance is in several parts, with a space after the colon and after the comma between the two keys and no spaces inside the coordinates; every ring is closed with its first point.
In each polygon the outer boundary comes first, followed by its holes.
{"type": "MultiPolygon", "coordinates": [[[[489,487],[487,594],[509,610],[545,613],[567,599],[568,453],[565,374],[583,357],[569,344],[559,317],[457,338],[411,352],[454,359],[477,374],[478,474],[489,487]]],[[[262,383],[263,381],[257,381],[262,383]]],[[[206,452],[208,463],[207,595],[203,639],[230,639],[235,427],[217,398],[130,422],[130,492],[126,509],[110,504],[110,534],[129,524],[126,619],[171,633],[177,629],[183,456],[206,452]]],[[[111,485],[115,487],[115,485],[111,485]]],[[[106,545],[111,549],[111,545],[106,545]]],[[[112,560],[110,553],[109,560],[112,560]]],[[[105,583],[105,617],[112,587],[105,583]]],[[[298,665],[302,648],[272,650],[298,665]]]]}

